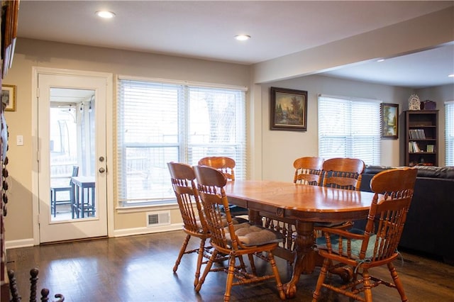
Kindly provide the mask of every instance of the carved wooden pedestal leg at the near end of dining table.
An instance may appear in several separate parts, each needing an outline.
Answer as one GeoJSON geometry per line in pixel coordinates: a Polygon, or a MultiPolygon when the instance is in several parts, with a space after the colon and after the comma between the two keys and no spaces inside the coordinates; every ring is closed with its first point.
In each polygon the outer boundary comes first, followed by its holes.
{"type": "Polygon", "coordinates": [[[292,279],[284,284],[287,298],[294,298],[297,293],[297,284],[301,274],[311,274],[316,265],[316,251],[314,251],[314,223],[297,220],[297,238],[295,240],[295,257],[292,279]]]}

